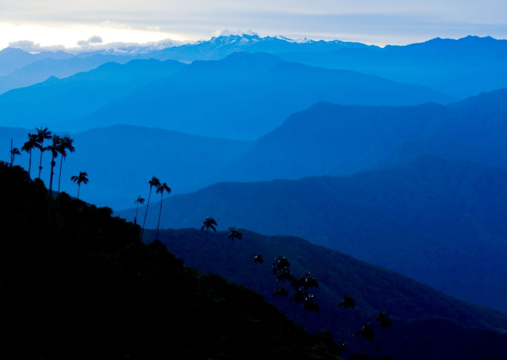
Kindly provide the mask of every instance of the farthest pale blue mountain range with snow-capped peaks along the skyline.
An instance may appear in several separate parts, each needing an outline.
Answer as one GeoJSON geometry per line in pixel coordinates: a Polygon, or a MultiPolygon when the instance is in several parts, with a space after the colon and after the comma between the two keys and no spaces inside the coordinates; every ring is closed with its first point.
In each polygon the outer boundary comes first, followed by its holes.
{"type": "MultiPolygon", "coordinates": [[[[108,49],[109,50],[109,49],[108,49]]],[[[0,51],[0,93],[32,85],[50,76],[70,76],[107,61],[131,59],[220,60],[234,52],[267,52],[284,60],[332,69],[349,69],[396,82],[427,86],[454,98],[507,87],[503,66],[507,41],[490,37],[432,39],[407,46],[379,48],[360,43],[261,38],[258,34],[223,33],[209,41],[151,46],[111,44],[109,51],[30,54],[20,49],[0,51]],[[113,50],[113,49],[116,49],[113,50]],[[15,73],[13,71],[16,71],[15,73]]]]}

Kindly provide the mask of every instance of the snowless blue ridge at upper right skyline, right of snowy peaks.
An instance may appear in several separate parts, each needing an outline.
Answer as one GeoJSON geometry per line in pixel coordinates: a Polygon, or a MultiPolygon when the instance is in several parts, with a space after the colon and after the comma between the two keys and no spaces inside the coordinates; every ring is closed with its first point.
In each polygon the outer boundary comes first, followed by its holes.
{"type": "Polygon", "coordinates": [[[437,38],[406,46],[343,47],[326,53],[277,55],[287,61],[421,84],[456,98],[507,87],[507,40],[490,37],[437,38]]]}

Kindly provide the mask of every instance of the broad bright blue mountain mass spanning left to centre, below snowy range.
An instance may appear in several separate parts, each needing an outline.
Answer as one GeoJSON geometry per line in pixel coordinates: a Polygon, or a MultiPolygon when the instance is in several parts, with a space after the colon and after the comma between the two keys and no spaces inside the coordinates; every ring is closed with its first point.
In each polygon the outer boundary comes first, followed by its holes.
{"type": "MultiPolygon", "coordinates": [[[[149,70],[149,66],[157,62],[144,61],[146,71],[155,77],[157,72],[149,70]]],[[[121,71],[121,67],[109,68],[121,71]]],[[[51,92],[47,86],[37,85],[0,95],[4,125],[30,128],[44,123],[53,129],[76,132],[142,124],[196,135],[253,140],[316,101],[413,105],[452,100],[419,85],[285,62],[267,53],[234,53],[223,60],[195,61],[173,75],[159,76],[149,83],[137,82],[128,87],[112,84],[105,96],[83,85],[84,81],[89,83],[87,77],[95,79],[93,71],[66,81],[51,81],[51,92]],[[25,96],[27,91],[32,98],[25,96]],[[33,98],[44,98],[44,103],[34,108],[33,98]],[[68,109],[69,104],[84,110],[73,112],[68,109]],[[33,114],[35,110],[37,115],[33,114]],[[84,112],[87,115],[79,117],[84,112]]]]}

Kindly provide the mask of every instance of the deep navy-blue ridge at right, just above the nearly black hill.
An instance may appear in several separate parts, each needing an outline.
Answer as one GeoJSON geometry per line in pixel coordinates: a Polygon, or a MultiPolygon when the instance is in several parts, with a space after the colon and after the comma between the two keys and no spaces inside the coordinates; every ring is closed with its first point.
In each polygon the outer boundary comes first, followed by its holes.
{"type": "MultiPolygon", "coordinates": [[[[301,236],[507,311],[507,169],[433,156],[346,177],[219,183],[164,199],[163,228],[301,236]]],[[[119,211],[127,219],[132,210],[119,211]]],[[[148,214],[156,227],[158,211],[148,214]]]]}

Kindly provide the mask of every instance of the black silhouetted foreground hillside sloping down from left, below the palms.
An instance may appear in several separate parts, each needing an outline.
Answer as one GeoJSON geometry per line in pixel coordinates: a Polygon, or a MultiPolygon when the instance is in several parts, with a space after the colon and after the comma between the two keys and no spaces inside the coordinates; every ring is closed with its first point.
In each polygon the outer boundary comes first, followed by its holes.
{"type": "Polygon", "coordinates": [[[112,210],[0,162],[0,358],[337,358],[262,296],[197,272],[112,210]],[[56,213],[58,212],[58,221],[56,213]],[[247,354],[247,355],[246,355],[247,354]]]}

